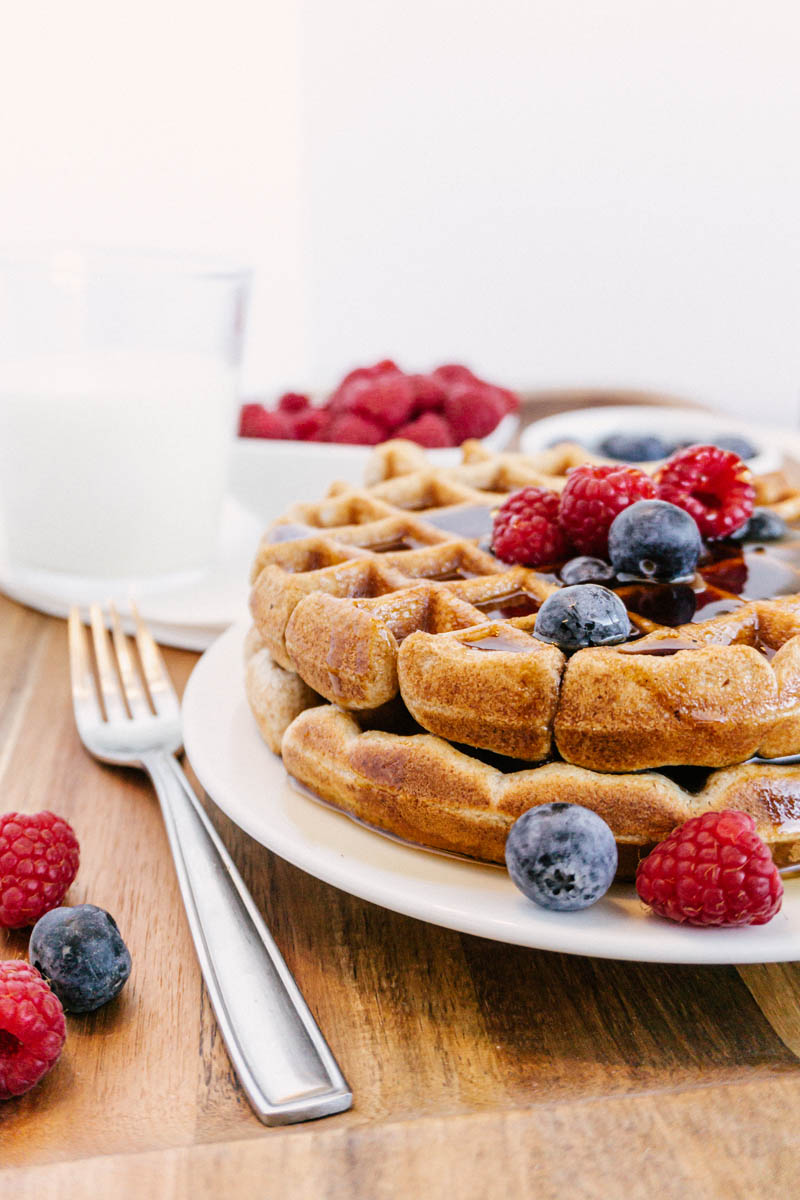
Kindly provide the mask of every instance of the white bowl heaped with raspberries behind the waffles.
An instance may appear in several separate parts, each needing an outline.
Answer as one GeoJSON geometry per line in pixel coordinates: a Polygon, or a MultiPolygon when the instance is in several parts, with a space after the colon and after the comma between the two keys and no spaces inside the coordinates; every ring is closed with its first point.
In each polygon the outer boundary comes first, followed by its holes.
{"type": "Polygon", "coordinates": [[[513,392],[458,364],[409,374],[384,360],[349,372],[320,400],[288,392],[276,404],[243,404],[230,490],[269,520],[338,480],[362,480],[372,448],[391,438],[423,448],[437,467],[456,466],[467,439],[504,450],[517,408],[513,392]]]}

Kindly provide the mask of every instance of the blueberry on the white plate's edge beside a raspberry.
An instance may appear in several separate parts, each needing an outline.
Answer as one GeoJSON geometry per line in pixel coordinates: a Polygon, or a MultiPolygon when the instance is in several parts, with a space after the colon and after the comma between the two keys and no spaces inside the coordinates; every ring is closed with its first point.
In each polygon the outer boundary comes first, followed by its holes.
{"type": "Polygon", "coordinates": [[[576,912],[608,892],[616,872],[616,842],[590,809],[542,804],[511,826],[506,866],[529,900],[555,912],[576,912]]]}

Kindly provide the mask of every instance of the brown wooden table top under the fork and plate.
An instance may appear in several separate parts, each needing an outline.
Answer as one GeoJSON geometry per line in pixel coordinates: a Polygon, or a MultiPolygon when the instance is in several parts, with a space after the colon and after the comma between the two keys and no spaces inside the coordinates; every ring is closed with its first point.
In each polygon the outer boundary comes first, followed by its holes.
{"type": "MultiPolygon", "coordinates": [[[[168,650],[182,688],[196,655],[168,650]]],[[[353,1085],[354,1109],[266,1129],[204,994],[155,798],[89,758],[66,628],[0,596],[0,811],[53,808],[68,900],[116,918],[121,996],[0,1104],[0,1195],[774,1195],[800,1158],[800,965],[648,966],[535,953],[365,904],[211,812],[353,1085]]],[[[25,934],[0,931],[4,958],[25,934]]]]}

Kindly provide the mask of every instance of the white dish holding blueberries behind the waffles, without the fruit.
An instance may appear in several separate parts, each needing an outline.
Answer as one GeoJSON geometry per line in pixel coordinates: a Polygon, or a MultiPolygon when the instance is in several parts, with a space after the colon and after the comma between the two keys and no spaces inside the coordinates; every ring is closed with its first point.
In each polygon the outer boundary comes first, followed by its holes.
{"type": "MultiPolygon", "coordinates": [[[[577,408],[558,413],[529,425],[523,431],[519,444],[525,454],[536,454],[555,442],[581,442],[588,450],[600,454],[602,439],[609,433],[622,431],[631,434],[660,434],[668,442],[703,443],[714,442],[716,434],[738,433],[747,438],[758,451],[747,460],[747,466],[756,474],[777,470],[783,458],[780,445],[770,442],[759,426],[739,421],[734,416],[660,404],[577,408]]],[[[640,466],[646,467],[648,463],[640,466]]]]}

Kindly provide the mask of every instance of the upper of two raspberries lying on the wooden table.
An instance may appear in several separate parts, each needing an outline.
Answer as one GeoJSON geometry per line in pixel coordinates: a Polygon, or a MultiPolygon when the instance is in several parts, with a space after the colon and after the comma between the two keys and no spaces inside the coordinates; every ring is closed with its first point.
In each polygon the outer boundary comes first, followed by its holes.
{"type": "Polygon", "coordinates": [[[0,817],[0,925],[22,929],[58,907],[78,872],[71,826],[54,812],[0,817]]]}

